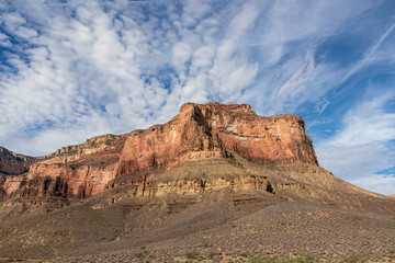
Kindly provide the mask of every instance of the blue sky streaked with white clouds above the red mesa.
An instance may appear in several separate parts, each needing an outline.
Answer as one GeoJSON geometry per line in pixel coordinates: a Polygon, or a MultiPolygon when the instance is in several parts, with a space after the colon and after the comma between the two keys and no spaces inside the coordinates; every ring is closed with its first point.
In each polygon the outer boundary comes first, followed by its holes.
{"type": "Polygon", "coordinates": [[[306,122],[321,167],[395,193],[395,1],[1,1],[0,145],[47,155],[184,102],[306,122]]]}

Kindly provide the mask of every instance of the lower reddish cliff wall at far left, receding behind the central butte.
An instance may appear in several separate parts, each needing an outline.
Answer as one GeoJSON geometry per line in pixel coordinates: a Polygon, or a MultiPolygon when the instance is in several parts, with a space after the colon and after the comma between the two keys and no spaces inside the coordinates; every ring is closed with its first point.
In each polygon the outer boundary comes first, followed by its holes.
{"type": "Polygon", "coordinates": [[[7,179],[3,195],[83,198],[101,193],[115,178],[123,144],[122,136],[104,135],[41,157],[27,174],[7,179]]]}

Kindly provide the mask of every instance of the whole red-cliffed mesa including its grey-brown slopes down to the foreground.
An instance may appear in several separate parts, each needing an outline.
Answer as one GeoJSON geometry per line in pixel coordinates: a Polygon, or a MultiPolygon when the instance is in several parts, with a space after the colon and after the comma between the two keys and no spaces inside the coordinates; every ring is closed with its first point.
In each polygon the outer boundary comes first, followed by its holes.
{"type": "Polygon", "coordinates": [[[395,261],[395,199],[320,168],[291,114],[185,103],[49,156],[0,148],[0,261],[395,261]]]}

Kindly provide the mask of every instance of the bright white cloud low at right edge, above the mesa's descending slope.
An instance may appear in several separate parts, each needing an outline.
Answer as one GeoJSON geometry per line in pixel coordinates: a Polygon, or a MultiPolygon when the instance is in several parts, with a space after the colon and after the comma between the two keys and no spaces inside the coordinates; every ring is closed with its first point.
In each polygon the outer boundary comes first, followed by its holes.
{"type": "Polygon", "coordinates": [[[395,114],[385,111],[394,100],[392,92],[368,95],[343,116],[343,127],[329,140],[321,141],[316,152],[321,167],[335,175],[370,191],[393,194],[394,178],[375,174],[395,163],[395,114]]]}

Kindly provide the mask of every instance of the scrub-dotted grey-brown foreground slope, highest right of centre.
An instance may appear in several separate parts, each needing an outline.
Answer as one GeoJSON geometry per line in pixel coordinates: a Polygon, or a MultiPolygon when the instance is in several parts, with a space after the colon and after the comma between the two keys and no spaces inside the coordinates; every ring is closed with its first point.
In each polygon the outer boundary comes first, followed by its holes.
{"type": "Polygon", "coordinates": [[[395,218],[279,204],[162,242],[54,262],[394,262],[395,218]]]}

